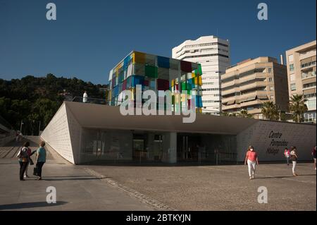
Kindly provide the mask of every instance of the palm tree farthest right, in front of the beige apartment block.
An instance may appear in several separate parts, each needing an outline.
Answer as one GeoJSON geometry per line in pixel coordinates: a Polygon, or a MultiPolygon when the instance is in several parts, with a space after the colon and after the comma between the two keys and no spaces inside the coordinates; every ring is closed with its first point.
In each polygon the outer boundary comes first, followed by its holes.
{"type": "Polygon", "coordinates": [[[306,101],[303,95],[292,95],[290,97],[290,111],[294,114],[294,122],[304,122],[304,113],[308,110],[305,104],[306,101]]]}

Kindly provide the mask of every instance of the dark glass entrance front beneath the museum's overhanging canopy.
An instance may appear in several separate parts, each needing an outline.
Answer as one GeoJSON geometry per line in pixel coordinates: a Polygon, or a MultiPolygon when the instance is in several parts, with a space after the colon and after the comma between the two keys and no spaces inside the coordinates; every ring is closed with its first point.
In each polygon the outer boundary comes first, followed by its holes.
{"type": "Polygon", "coordinates": [[[235,135],[177,133],[172,139],[168,132],[83,128],[80,162],[236,162],[235,135]]]}

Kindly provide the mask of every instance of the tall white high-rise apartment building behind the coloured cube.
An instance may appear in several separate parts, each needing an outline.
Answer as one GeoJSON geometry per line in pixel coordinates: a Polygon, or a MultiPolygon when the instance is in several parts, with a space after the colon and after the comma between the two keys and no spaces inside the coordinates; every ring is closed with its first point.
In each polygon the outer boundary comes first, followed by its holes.
{"type": "Polygon", "coordinates": [[[203,36],[196,40],[186,40],[172,49],[172,57],[200,63],[202,69],[203,112],[220,114],[220,75],[230,66],[229,40],[216,36],[203,36]]]}

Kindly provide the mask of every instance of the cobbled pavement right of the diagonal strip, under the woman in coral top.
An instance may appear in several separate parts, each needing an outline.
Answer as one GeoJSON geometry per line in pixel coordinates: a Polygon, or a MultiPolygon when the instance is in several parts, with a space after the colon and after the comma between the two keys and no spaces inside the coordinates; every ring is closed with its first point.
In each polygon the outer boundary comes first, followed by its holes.
{"type": "Polygon", "coordinates": [[[247,166],[88,166],[121,186],[129,187],[178,210],[313,210],[316,171],[313,164],[261,164],[249,181],[247,166]],[[259,187],[268,203],[259,204],[259,187]]]}

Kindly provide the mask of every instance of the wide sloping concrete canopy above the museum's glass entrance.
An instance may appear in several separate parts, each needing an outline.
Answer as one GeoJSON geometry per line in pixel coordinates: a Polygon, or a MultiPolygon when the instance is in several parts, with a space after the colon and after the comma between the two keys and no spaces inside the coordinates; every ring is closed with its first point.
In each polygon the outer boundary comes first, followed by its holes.
{"type": "Polygon", "coordinates": [[[236,135],[256,123],[253,118],[197,114],[194,123],[182,123],[184,116],[122,116],[119,107],[100,104],[65,102],[84,128],[123,130],[159,130],[182,133],[215,133],[236,135]]]}

